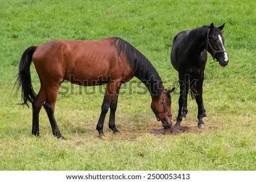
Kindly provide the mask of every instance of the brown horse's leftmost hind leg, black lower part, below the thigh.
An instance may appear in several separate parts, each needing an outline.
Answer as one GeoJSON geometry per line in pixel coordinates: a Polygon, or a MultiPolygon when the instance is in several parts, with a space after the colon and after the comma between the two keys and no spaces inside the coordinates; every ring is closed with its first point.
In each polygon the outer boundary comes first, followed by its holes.
{"type": "Polygon", "coordinates": [[[39,136],[39,112],[46,101],[46,92],[40,88],[36,99],[32,103],[32,134],[39,136]]]}

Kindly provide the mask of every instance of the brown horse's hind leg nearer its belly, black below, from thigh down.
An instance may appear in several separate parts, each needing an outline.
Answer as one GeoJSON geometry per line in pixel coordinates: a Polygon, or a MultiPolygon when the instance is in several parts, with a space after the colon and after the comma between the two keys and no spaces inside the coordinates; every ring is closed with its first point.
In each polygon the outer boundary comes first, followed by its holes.
{"type": "Polygon", "coordinates": [[[46,103],[44,103],[44,109],[46,109],[49,122],[51,124],[53,136],[64,139],[64,137],[61,135],[59,131],[59,128],[57,126],[55,116],[54,116],[55,103],[57,99],[58,90],[59,90],[59,87],[51,88],[51,92],[47,93],[46,103]]]}

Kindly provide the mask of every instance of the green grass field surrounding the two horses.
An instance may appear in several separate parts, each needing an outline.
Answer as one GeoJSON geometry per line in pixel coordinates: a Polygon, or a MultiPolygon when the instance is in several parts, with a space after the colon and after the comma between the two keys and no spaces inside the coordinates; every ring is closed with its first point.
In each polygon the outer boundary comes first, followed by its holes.
{"type": "MultiPolygon", "coordinates": [[[[255,1],[0,2],[0,170],[256,170],[255,1]],[[121,37],[151,61],[164,86],[171,88],[177,81],[170,64],[172,38],[212,22],[226,24],[230,62],[222,69],[208,55],[203,87],[206,128],[197,129],[196,102],[189,99],[181,125],[192,132],[152,136],[161,124],[152,114],[150,95],[136,94],[141,88],[126,84],[116,113],[121,135],[112,134],[106,120],[106,139],[101,140],[96,124],[105,86],[85,90],[65,82],[62,91],[70,91],[58,96],[55,116],[67,139],[52,136],[43,109],[41,136],[32,136],[32,109],[16,105],[20,91],[13,90],[28,46],[55,39],[121,37]],[[86,94],[93,90],[96,94],[86,94]]],[[[31,74],[38,91],[34,65],[31,74]]],[[[178,98],[172,95],[174,118],[178,98]]]]}

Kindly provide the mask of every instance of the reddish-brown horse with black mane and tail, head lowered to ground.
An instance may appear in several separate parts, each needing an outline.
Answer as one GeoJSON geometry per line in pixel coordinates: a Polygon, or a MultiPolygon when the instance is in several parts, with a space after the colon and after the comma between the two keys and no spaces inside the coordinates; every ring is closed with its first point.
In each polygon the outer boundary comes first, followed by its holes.
{"type": "Polygon", "coordinates": [[[115,111],[122,83],[137,77],[151,94],[151,109],[164,128],[172,125],[171,95],[150,61],[127,41],[118,37],[102,40],[55,40],[27,48],[19,63],[17,89],[22,87],[23,105],[32,103],[32,134],[39,136],[39,112],[46,109],[52,133],[64,138],[55,120],[55,102],[63,81],[82,86],[106,84],[101,114],[97,123],[98,137],[104,137],[104,120],[110,108],[109,128],[115,127],[115,111]],[[30,65],[34,62],[40,79],[38,95],[31,84],[30,65]]]}

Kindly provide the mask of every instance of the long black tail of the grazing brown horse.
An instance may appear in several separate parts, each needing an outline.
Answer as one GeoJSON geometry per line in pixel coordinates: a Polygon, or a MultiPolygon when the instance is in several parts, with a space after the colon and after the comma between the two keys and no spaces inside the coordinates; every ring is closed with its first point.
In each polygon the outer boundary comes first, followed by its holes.
{"type": "Polygon", "coordinates": [[[17,75],[15,86],[17,90],[22,87],[22,105],[28,106],[28,101],[31,103],[35,100],[36,94],[31,84],[30,65],[32,56],[36,50],[36,46],[30,46],[22,54],[19,62],[19,73],[17,75]]]}

